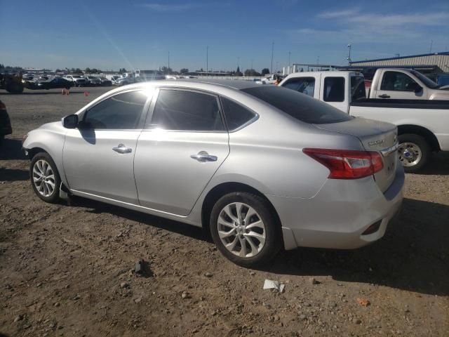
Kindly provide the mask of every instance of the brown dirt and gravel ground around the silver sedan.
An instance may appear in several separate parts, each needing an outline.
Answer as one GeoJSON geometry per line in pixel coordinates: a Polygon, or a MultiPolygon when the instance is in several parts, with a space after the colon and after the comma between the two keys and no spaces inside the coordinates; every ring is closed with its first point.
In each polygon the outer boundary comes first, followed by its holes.
{"type": "Polygon", "coordinates": [[[248,270],[223,258],[199,228],[34,195],[20,139],[107,91],[84,90],[0,93],[13,124],[0,149],[1,333],[449,336],[448,154],[406,176],[401,215],[379,242],[297,249],[248,270]],[[147,269],[138,276],[141,258],[147,269]],[[284,282],[285,291],[263,290],[264,279],[284,282]]]}

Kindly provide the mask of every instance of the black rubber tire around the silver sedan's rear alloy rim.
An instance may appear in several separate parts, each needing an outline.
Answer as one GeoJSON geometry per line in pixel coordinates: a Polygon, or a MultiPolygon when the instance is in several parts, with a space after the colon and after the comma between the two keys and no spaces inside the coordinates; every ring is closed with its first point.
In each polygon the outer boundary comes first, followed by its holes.
{"type": "MultiPolygon", "coordinates": [[[[217,249],[233,263],[243,267],[257,267],[269,263],[269,261],[279,252],[282,245],[281,227],[279,226],[278,221],[276,221],[276,217],[272,214],[268,201],[256,194],[248,192],[232,192],[218,199],[210,213],[210,234],[212,235],[217,249]],[[235,202],[240,202],[252,207],[257,212],[260,220],[264,223],[265,242],[262,249],[255,254],[255,256],[236,256],[225,247],[225,244],[223,244],[218,234],[218,218],[220,213],[222,213],[225,206],[235,202]]],[[[238,239],[236,236],[234,237],[235,240],[238,239]]],[[[255,243],[254,241],[252,242],[255,243]]],[[[245,244],[248,249],[250,249],[249,242],[248,244],[245,244]]],[[[240,243],[237,244],[237,247],[238,246],[241,246],[240,243]]]]}

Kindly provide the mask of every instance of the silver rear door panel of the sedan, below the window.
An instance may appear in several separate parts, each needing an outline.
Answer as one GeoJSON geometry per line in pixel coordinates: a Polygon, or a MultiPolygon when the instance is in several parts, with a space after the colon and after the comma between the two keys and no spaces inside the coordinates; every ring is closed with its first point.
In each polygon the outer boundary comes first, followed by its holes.
{"type": "Polygon", "coordinates": [[[229,154],[228,140],[227,133],[142,131],[134,162],[140,205],[187,216],[229,154]],[[200,152],[217,160],[191,157],[200,152]]]}

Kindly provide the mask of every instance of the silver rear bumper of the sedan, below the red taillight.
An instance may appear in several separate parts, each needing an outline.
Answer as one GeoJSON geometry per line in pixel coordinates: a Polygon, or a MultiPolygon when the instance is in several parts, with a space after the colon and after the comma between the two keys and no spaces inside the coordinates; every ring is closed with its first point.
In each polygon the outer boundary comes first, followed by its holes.
{"type": "Polygon", "coordinates": [[[401,165],[388,190],[382,193],[373,177],[358,180],[329,179],[311,199],[267,195],[283,226],[285,249],[307,246],[356,249],[384,236],[403,200],[401,165]],[[380,223],[372,234],[363,234],[380,223]]]}

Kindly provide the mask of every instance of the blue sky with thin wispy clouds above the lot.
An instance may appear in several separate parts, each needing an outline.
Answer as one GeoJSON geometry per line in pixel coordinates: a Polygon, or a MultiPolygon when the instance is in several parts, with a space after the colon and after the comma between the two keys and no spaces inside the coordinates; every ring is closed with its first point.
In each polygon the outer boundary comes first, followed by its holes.
{"type": "Polygon", "coordinates": [[[281,70],[448,51],[449,1],[0,0],[0,63],[281,70]],[[273,45],[274,43],[274,45],[273,45]],[[290,53],[290,54],[289,54],[290,53]]]}

